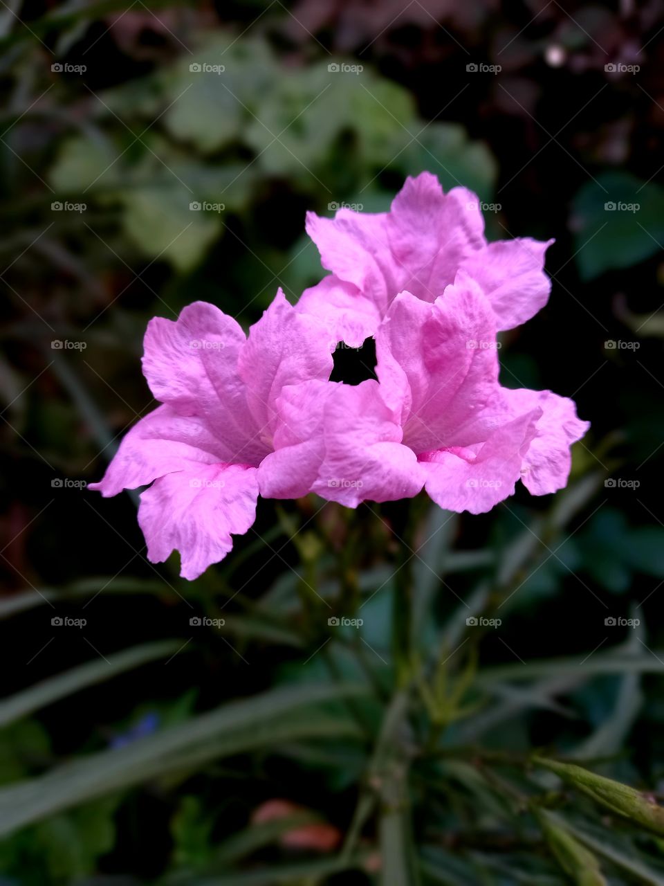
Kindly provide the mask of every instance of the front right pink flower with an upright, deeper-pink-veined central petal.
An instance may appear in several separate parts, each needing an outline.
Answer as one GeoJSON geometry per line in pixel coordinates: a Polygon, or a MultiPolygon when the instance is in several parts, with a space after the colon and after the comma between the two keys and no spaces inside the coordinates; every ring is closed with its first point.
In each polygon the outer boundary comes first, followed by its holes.
{"type": "MultiPolygon", "coordinates": [[[[572,400],[498,382],[496,317],[467,271],[433,303],[400,293],[376,333],[379,382],[309,382],[277,401],[290,440],[309,435],[306,484],[333,501],[389,501],[425,486],[440,507],[481,513],[567,483],[588,423],[572,400]]],[[[264,466],[284,457],[269,455],[264,466]]]]}

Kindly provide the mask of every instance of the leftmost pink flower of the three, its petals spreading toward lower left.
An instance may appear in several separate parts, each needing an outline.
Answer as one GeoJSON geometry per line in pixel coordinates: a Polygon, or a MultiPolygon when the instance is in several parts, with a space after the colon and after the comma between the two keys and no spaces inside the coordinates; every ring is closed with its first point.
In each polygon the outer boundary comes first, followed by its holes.
{"type": "MultiPolygon", "coordinates": [[[[148,557],[160,563],[175,548],[181,575],[195,579],[254,522],[260,465],[282,434],[275,408],[282,390],[322,382],[331,369],[325,330],[297,315],[282,291],[249,338],[205,302],[185,307],[175,322],[155,317],[143,374],[162,405],[127,433],[90,488],[108,496],[151,483],[138,511],[148,557]]],[[[294,449],[270,478],[292,497],[300,494],[298,474],[294,449]]]]}

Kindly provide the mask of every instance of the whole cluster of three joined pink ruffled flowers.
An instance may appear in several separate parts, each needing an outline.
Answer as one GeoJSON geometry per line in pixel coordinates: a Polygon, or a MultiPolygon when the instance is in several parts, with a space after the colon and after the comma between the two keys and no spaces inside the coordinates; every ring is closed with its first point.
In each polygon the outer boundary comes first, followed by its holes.
{"type": "Polygon", "coordinates": [[[249,335],[196,302],[151,320],[143,374],[160,402],[90,488],[141,494],[153,563],[181,553],[195,579],[247,532],[259,494],[310,492],[355,508],[425,488],[441,508],[490,510],[521,479],[567,483],[588,428],[572,400],[498,382],[498,330],[544,306],[548,243],[488,244],[478,200],[406,180],[390,212],[309,214],[331,271],[295,307],[282,291],[249,335]],[[338,342],[373,337],[376,379],[329,380],[338,342]]]}

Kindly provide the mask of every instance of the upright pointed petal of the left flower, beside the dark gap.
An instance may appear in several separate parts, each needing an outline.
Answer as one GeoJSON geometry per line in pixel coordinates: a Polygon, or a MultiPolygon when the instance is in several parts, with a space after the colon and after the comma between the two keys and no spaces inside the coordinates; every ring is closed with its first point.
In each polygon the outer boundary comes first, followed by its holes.
{"type": "Polygon", "coordinates": [[[282,388],[311,379],[327,381],[334,365],[333,348],[322,323],[297,313],[281,289],[251,327],[238,370],[246,385],[251,415],[270,448],[278,424],[276,400],[282,388]]]}

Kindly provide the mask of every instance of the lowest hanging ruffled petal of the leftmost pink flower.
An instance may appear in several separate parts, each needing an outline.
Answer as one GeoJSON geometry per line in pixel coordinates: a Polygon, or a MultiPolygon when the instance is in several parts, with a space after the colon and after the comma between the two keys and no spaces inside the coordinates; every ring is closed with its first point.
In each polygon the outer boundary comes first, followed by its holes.
{"type": "Polygon", "coordinates": [[[258,497],[255,468],[190,464],[166,474],[141,494],[138,522],[148,559],[163,563],[178,550],[182,578],[197,579],[228,554],[231,535],[253,525],[258,497]]]}

